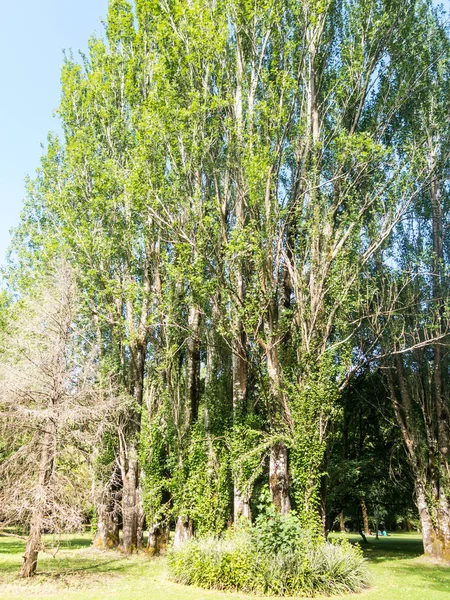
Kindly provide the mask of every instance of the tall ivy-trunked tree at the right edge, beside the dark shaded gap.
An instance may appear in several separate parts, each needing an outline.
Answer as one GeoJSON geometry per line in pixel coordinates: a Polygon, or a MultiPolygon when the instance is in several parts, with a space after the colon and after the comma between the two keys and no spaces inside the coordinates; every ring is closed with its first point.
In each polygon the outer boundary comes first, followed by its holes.
{"type": "Polygon", "coordinates": [[[417,66],[399,65],[398,78],[420,71],[420,81],[401,113],[408,126],[398,135],[420,149],[412,170],[426,177],[396,232],[384,276],[390,279],[384,336],[387,386],[415,480],[426,554],[450,552],[450,404],[448,370],[448,157],[444,125],[449,98],[449,39],[439,12],[422,7],[416,31],[417,66]],[[402,75],[400,75],[400,72],[402,75]]]}

